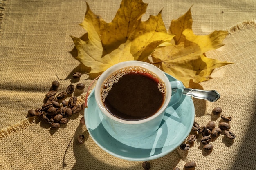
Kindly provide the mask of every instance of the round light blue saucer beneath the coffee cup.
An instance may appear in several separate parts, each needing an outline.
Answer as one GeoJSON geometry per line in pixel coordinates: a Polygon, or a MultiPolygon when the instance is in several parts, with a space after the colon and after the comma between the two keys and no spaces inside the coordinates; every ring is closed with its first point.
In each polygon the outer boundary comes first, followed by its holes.
{"type": "MultiPolygon", "coordinates": [[[[166,76],[170,81],[176,80],[168,74],[166,76]]],[[[192,98],[182,95],[177,104],[166,109],[164,119],[154,135],[131,141],[119,138],[114,132],[104,128],[105,120],[95,102],[94,89],[87,102],[85,124],[94,142],[109,154],[130,161],[148,161],[172,152],[189,135],[195,118],[192,98]]]]}

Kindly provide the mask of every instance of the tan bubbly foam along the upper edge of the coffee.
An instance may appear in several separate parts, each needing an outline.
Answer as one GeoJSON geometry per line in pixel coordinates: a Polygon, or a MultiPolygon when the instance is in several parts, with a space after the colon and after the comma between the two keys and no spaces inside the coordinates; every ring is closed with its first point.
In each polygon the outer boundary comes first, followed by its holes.
{"type": "Polygon", "coordinates": [[[150,74],[153,78],[157,78],[159,81],[158,82],[158,90],[161,91],[165,97],[166,86],[165,86],[164,82],[159,77],[157,77],[157,75],[155,73],[147,70],[144,67],[129,66],[129,67],[121,68],[118,71],[115,71],[103,82],[103,84],[101,85],[101,100],[102,100],[102,102],[105,101],[105,99],[108,95],[108,92],[111,90],[113,84],[118,82],[119,79],[121,79],[124,75],[126,75],[128,73],[147,73],[147,74],[150,74]]]}

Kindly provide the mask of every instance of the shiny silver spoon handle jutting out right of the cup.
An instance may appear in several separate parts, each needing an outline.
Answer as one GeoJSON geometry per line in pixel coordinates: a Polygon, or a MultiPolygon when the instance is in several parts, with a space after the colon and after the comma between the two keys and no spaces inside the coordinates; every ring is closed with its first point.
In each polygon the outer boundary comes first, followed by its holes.
{"type": "Polygon", "coordinates": [[[215,102],[220,98],[220,94],[215,90],[205,91],[199,89],[185,88],[182,94],[192,96],[197,99],[208,100],[210,102],[215,102]]]}

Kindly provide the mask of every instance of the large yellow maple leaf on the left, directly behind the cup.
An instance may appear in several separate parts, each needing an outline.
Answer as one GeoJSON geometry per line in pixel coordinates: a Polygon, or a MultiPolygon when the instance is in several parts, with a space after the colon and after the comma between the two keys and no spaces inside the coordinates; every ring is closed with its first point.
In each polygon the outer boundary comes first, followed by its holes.
{"type": "Polygon", "coordinates": [[[106,23],[95,15],[87,4],[85,18],[80,25],[88,32],[88,40],[71,37],[78,51],[76,59],[91,68],[88,73],[103,72],[123,61],[146,60],[159,44],[173,38],[173,35],[167,34],[161,12],[141,22],[141,15],[145,13],[147,4],[141,0],[130,2],[130,8],[125,7],[127,0],[121,2],[111,23],[106,23]]]}

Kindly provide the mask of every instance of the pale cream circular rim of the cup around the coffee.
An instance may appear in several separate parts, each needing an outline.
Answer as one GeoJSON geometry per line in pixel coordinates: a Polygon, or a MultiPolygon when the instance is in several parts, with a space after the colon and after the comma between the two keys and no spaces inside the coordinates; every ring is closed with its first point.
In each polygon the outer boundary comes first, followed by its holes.
{"type": "Polygon", "coordinates": [[[113,66],[111,66],[110,68],[108,68],[106,71],[104,71],[101,76],[99,77],[96,86],[95,86],[95,91],[94,91],[94,95],[95,95],[95,100],[97,105],[99,106],[101,113],[103,113],[104,115],[106,115],[108,118],[123,123],[123,124],[142,124],[148,121],[151,121],[153,119],[155,119],[157,116],[161,115],[161,113],[163,113],[166,108],[168,107],[168,104],[171,100],[171,84],[168,83],[168,77],[164,74],[164,72],[162,70],[160,70],[159,68],[157,68],[156,66],[154,66],[153,64],[147,63],[147,62],[142,62],[142,61],[125,61],[125,62],[120,62],[118,64],[115,64],[113,66]],[[108,78],[112,73],[114,73],[115,71],[121,69],[121,68],[125,68],[128,66],[141,66],[144,67],[150,71],[152,71],[153,73],[155,73],[160,79],[162,79],[165,82],[165,86],[166,86],[166,96],[165,96],[165,100],[164,100],[164,104],[162,104],[162,107],[157,111],[157,113],[155,113],[154,115],[146,118],[146,119],[141,119],[141,120],[135,120],[135,121],[128,121],[128,120],[123,120],[123,119],[119,119],[115,116],[113,116],[111,113],[108,112],[108,110],[105,108],[105,106],[103,105],[103,102],[101,101],[101,94],[100,94],[100,88],[101,88],[101,84],[104,82],[104,80],[106,78],[108,78]]]}

